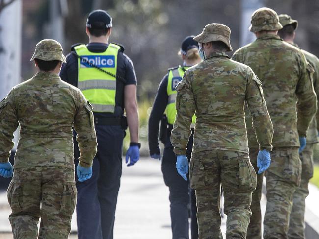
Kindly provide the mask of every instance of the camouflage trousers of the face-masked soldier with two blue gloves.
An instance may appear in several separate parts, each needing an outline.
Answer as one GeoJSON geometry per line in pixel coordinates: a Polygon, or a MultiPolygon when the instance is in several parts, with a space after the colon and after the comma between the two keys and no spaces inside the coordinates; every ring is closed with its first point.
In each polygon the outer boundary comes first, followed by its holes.
{"type": "Polygon", "coordinates": [[[222,239],[220,231],[220,185],[224,190],[227,239],[245,239],[256,173],[248,154],[225,150],[192,153],[190,185],[197,199],[200,239],[222,239]]]}

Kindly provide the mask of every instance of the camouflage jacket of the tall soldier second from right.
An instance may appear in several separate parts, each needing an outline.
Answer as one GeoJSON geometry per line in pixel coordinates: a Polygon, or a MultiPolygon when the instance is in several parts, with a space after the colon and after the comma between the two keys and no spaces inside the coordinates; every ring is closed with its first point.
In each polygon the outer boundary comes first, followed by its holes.
{"type": "MultiPolygon", "coordinates": [[[[298,136],[306,136],[317,110],[316,94],[302,52],[279,36],[266,34],[239,48],[232,59],[250,66],[263,83],[274,127],[274,147],[299,147],[298,136]]],[[[245,112],[248,144],[257,148],[247,108],[245,112]]]]}

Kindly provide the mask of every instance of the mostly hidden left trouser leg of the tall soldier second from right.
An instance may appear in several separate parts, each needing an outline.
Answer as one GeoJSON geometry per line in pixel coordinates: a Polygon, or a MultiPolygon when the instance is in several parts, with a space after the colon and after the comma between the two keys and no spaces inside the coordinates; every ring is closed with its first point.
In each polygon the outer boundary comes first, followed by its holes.
{"type": "MultiPolygon", "coordinates": [[[[258,148],[249,148],[249,158],[256,173],[259,170],[257,167],[258,152],[258,148]]],[[[264,173],[257,174],[256,190],[253,191],[251,196],[250,210],[252,216],[250,217],[250,222],[247,229],[247,239],[262,239],[262,213],[260,208],[260,200],[262,198],[263,178],[264,173]]]]}

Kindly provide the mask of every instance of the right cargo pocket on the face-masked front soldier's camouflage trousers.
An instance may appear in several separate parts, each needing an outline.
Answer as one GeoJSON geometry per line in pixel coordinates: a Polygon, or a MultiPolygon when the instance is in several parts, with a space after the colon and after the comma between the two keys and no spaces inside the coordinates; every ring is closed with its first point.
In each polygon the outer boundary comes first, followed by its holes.
{"type": "Polygon", "coordinates": [[[239,189],[254,191],[256,189],[257,176],[254,167],[248,159],[239,159],[239,189]]]}

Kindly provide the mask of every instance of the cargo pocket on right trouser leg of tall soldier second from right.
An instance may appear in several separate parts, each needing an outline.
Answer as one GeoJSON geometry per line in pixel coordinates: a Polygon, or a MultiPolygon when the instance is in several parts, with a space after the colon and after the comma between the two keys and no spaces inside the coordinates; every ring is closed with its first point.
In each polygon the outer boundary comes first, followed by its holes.
{"type": "Polygon", "coordinates": [[[288,154],[285,158],[285,167],[283,169],[284,178],[299,187],[301,181],[301,168],[302,162],[299,155],[288,154]]]}

